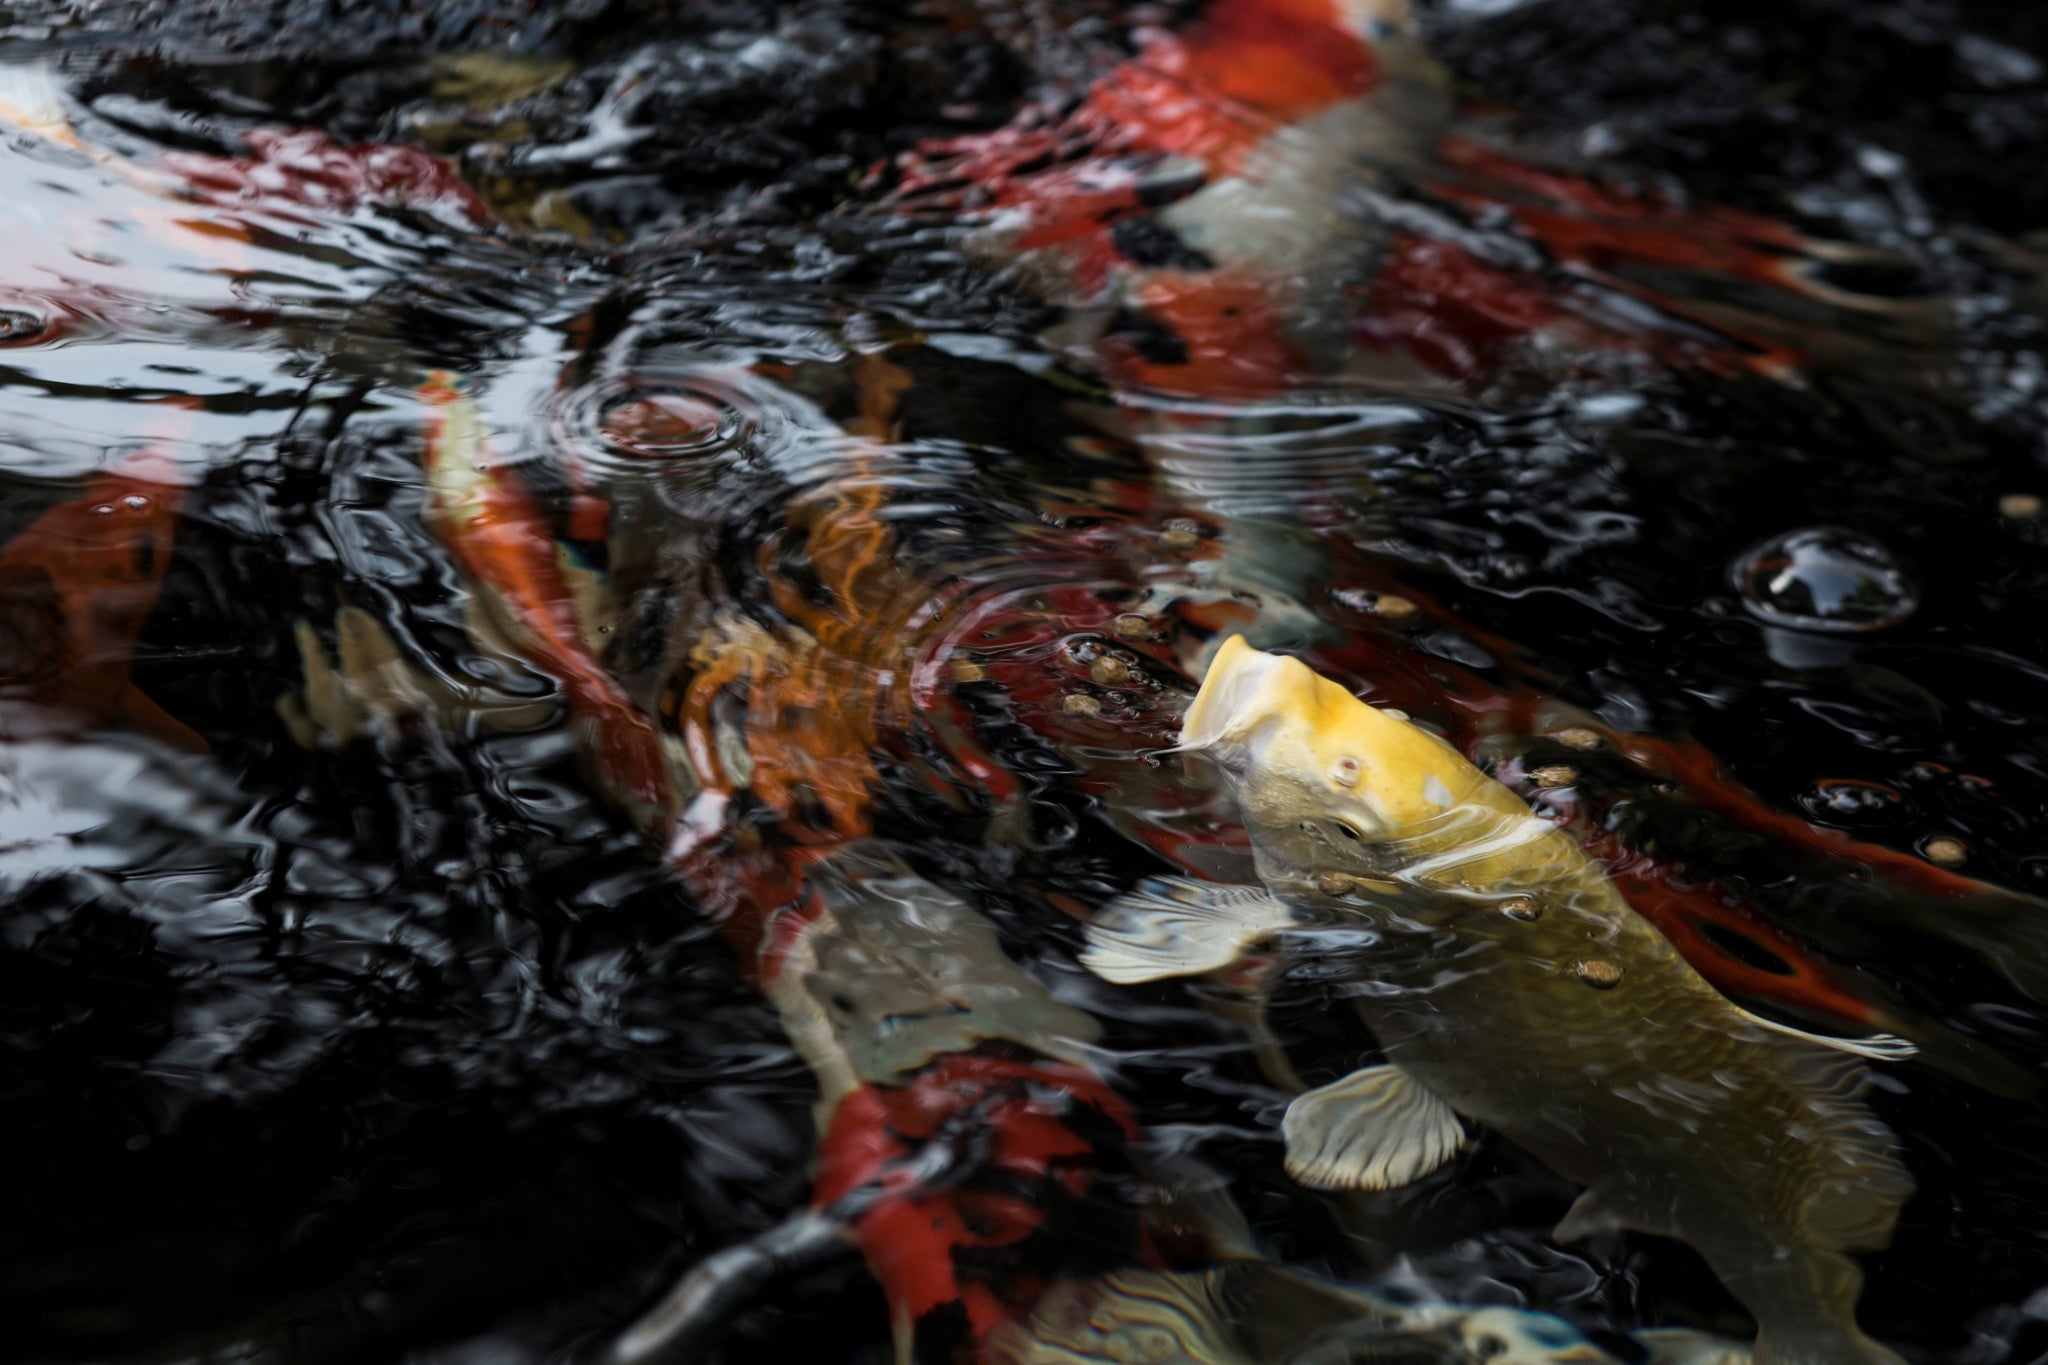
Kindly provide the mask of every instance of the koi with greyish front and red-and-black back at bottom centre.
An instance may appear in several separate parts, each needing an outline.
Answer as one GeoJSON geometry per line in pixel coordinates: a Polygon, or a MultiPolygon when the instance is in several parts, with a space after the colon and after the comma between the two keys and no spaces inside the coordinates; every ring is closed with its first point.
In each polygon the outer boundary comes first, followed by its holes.
{"type": "Polygon", "coordinates": [[[809,857],[764,943],[768,997],[819,1078],[813,1205],[874,1189],[850,1236],[918,1359],[975,1359],[1055,1279],[1161,1267],[1128,1105],[1096,1021],[1008,960],[995,927],[872,843],[809,857]],[[973,1154],[901,1181],[932,1144],[973,1154]]]}

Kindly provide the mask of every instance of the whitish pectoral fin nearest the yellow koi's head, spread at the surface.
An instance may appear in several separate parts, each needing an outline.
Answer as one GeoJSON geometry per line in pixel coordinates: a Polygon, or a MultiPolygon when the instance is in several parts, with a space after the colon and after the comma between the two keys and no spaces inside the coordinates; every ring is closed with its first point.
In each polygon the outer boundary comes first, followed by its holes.
{"type": "Polygon", "coordinates": [[[1255,941],[1292,919],[1264,886],[1149,878],[1102,907],[1087,925],[1081,966],[1120,986],[1200,976],[1241,960],[1255,941]]]}

